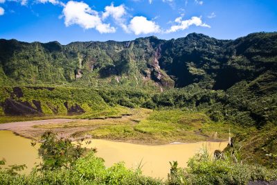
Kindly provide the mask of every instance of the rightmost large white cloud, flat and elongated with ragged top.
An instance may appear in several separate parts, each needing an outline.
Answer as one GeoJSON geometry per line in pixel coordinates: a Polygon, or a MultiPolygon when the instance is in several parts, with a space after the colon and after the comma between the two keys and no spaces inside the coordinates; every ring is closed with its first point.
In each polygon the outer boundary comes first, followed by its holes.
{"type": "Polygon", "coordinates": [[[211,26],[202,22],[201,17],[191,17],[190,19],[184,21],[182,20],[182,17],[177,17],[175,22],[178,24],[171,26],[170,29],[166,30],[166,33],[176,32],[178,30],[186,30],[193,25],[211,28],[211,26]]]}

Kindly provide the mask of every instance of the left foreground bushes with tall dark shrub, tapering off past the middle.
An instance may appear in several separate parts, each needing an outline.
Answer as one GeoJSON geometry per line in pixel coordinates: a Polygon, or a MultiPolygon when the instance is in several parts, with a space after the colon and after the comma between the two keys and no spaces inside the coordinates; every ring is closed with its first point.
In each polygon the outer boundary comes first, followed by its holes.
{"type": "MultiPolygon", "coordinates": [[[[159,179],[141,175],[141,168],[130,170],[123,163],[110,168],[104,160],[87,152],[80,144],[76,146],[69,139],[58,139],[51,131],[42,135],[39,156],[43,164],[34,168],[29,175],[19,175],[23,166],[0,168],[0,184],[161,184],[159,179]]],[[[35,145],[35,143],[33,143],[35,145]]],[[[0,161],[0,165],[5,161],[0,161]]]]}

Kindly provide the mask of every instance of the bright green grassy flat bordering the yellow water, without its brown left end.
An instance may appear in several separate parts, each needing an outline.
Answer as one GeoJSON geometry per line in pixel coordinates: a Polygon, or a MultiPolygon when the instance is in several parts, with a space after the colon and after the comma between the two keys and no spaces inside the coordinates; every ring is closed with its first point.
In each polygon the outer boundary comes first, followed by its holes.
{"type": "MultiPolygon", "coordinates": [[[[139,113],[141,114],[141,113],[139,113]]],[[[131,118],[132,119],[132,118],[131,118]]],[[[134,119],[132,119],[134,120],[134,119]]],[[[242,132],[241,127],[211,121],[202,112],[179,109],[154,111],[138,123],[105,125],[89,132],[93,138],[133,141],[136,143],[170,143],[227,140],[229,128],[242,132]],[[217,132],[217,136],[215,136],[217,132]]]]}

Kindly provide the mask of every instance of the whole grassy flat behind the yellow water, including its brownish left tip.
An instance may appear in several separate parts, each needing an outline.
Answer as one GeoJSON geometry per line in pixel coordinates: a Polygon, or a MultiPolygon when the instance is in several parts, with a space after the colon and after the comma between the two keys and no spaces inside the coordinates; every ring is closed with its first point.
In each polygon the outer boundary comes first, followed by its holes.
{"type": "Polygon", "coordinates": [[[241,127],[211,121],[203,112],[180,109],[133,109],[131,116],[122,118],[82,120],[35,127],[54,130],[61,127],[87,127],[86,131],[76,132],[74,136],[90,134],[93,138],[134,143],[222,141],[228,139],[230,127],[233,133],[242,132],[241,127]]]}

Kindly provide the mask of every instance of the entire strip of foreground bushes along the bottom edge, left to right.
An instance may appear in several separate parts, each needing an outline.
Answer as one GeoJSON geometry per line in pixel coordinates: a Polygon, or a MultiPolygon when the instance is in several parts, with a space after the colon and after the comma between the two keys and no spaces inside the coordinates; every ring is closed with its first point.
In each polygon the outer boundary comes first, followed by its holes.
{"type": "MultiPolygon", "coordinates": [[[[244,164],[240,150],[235,148],[215,155],[204,148],[188,161],[187,168],[179,168],[177,161],[172,161],[168,179],[161,181],[143,176],[141,166],[127,169],[121,162],[105,168],[104,160],[94,155],[95,150],[84,155],[80,144],[74,146],[67,139],[58,139],[53,132],[45,132],[42,140],[42,168],[34,168],[29,175],[17,173],[24,166],[0,168],[1,184],[248,184],[277,178],[276,169],[244,164]]],[[[3,164],[5,161],[0,161],[3,164]]]]}

